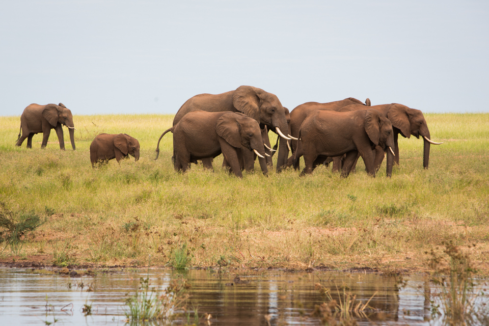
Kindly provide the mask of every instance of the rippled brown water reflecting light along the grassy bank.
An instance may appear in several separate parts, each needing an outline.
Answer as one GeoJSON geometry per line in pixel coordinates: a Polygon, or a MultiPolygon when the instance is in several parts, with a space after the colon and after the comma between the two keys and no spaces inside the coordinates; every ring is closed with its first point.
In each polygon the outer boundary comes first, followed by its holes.
{"type": "MultiPolygon", "coordinates": [[[[428,325],[429,291],[424,277],[406,277],[403,287],[396,279],[371,273],[313,271],[247,271],[246,274],[216,273],[209,270],[123,271],[71,278],[50,270],[0,268],[0,324],[123,325],[125,299],[134,294],[140,277],[149,275],[150,287],[163,289],[175,278],[184,278],[191,304],[188,316],[176,324],[193,323],[194,309],[202,325],[320,325],[311,315],[314,306],[324,302],[315,284],[319,283],[338,298],[336,286],[346,285],[357,300],[369,298],[374,312],[359,316],[359,324],[428,325]],[[375,294],[375,295],[374,295],[375,294]],[[84,305],[92,314],[85,316],[84,305]],[[211,314],[210,323],[204,314],[211,314]]],[[[341,290],[340,290],[341,291],[341,290]]]]}

